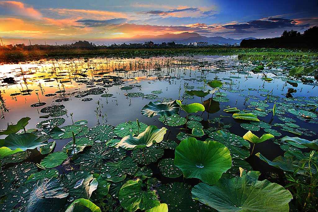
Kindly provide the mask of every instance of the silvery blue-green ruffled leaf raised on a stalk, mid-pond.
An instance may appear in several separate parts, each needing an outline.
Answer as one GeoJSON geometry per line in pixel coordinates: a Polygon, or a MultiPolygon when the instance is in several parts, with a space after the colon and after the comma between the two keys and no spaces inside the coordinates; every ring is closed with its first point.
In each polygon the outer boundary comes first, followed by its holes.
{"type": "Polygon", "coordinates": [[[153,117],[156,115],[161,115],[161,116],[171,116],[173,114],[176,114],[179,111],[179,107],[176,103],[176,101],[171,101],[171,102],[149,102],[148,105],[145,105],[141,113],[144,116],[147,117],[153,117]]]}

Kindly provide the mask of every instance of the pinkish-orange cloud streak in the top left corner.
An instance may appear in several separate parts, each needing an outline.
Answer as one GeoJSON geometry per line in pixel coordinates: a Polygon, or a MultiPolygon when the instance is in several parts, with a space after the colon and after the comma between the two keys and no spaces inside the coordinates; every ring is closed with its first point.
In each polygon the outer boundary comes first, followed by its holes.
{"type": "Polygon", "coordinates": [[[0,10],[3,10],[4,13],[10,12],[11,14],[13,13],[15,15],[32,17],[35,19],[42,17],[42,14],[38,12],[38,10],[26,7],[22,2],[0,1],[0,10]]]}

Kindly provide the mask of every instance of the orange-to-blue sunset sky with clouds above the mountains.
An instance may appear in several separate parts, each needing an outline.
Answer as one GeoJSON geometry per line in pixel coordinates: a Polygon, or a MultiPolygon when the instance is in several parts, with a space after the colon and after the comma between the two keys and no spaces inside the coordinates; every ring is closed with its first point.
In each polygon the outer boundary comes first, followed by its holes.
{"type": "Polygon", "coordinates": [[[89,40],[182,32],[273,38],[315,25],[317,0],[0,0],[2,38],[89,40]]]}

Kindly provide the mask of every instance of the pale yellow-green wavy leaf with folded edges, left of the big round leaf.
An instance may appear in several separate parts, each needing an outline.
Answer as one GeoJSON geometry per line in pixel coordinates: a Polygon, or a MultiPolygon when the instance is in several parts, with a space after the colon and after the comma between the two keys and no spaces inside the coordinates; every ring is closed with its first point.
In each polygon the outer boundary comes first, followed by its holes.
{"type": "Polygon", "coordinates": [[[124,149],[150,147],[153,143],[159,143],[162,141],[166,131],[167,128],[165,127],[158,129],[156,126],[150,125],[137,137],[133,137],[131,134],[125,136],[116,145],[116,147],[122,147],[124,149]]]}

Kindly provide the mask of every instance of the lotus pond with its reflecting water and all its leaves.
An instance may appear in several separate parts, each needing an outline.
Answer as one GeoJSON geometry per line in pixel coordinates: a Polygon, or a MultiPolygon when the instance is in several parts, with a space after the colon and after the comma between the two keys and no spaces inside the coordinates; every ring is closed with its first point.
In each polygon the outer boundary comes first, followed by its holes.
{"type": "Polygon", "coordinates": [[[317,211],[317,55],[235,51],[4,65],[2,211],[317,211]]]}

